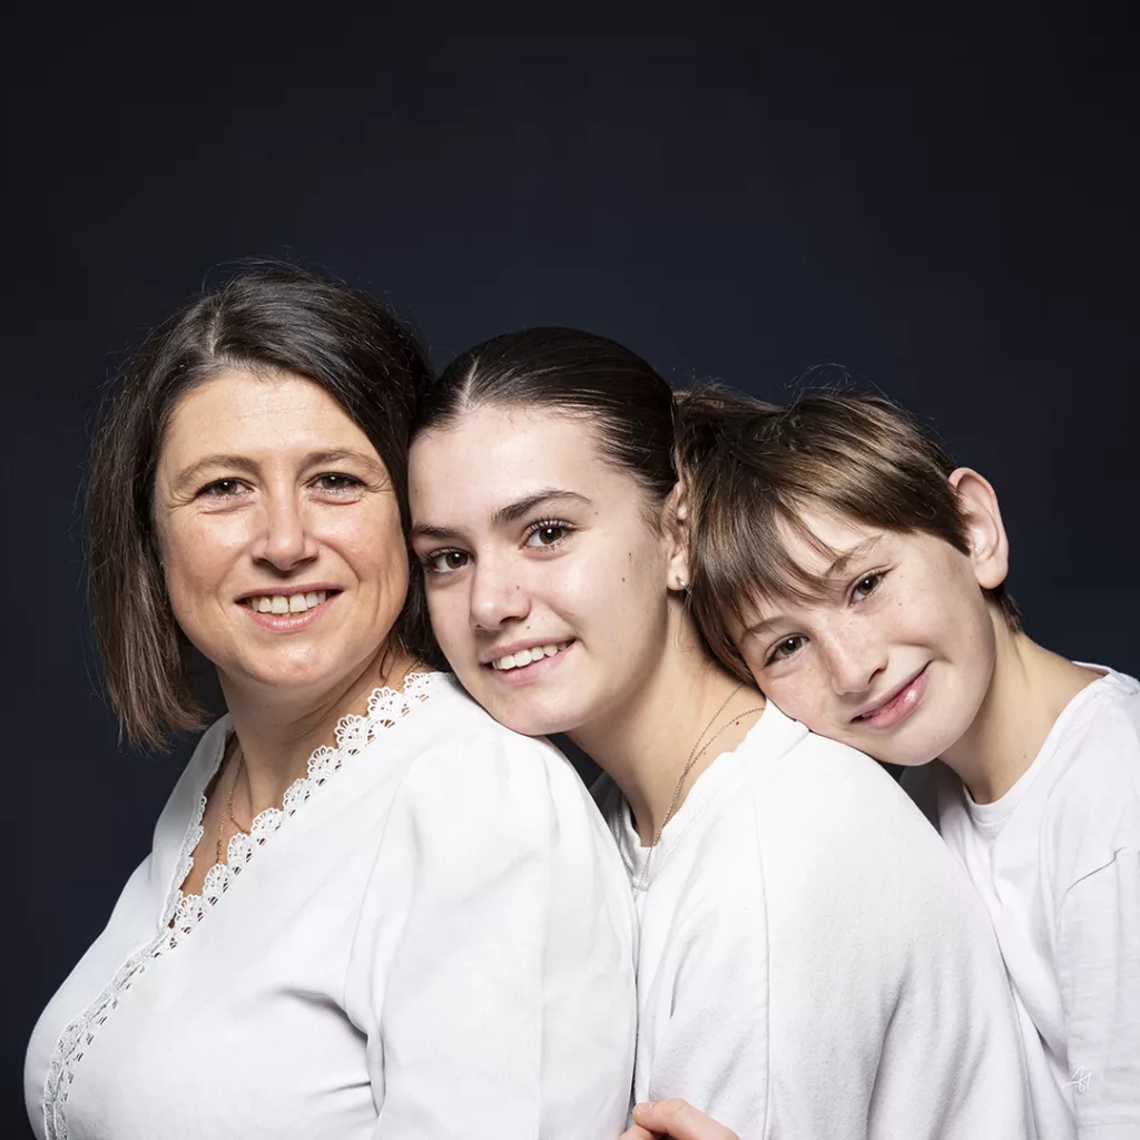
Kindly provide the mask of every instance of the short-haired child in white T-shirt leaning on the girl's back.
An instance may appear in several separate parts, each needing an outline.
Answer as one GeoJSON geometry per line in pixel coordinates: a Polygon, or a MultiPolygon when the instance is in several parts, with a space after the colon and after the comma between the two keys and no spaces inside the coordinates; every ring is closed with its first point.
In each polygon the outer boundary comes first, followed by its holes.
{"type": "Polygon", "coordinates": [[[1040,1134],[1140,1137],[1140,685],[1023,632],[993,487],[889,401],[699,390],[678,421],[710,646],[813,732],[926,766],[904,787],[990,911],[1040,1134]]]}

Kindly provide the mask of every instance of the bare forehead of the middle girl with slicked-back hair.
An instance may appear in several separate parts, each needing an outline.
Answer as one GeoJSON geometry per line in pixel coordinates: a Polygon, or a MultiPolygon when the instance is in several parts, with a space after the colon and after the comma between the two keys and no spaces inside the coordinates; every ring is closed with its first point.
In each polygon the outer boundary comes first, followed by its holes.
{"type": "Polygon", "coordinates": [[[633,495],[633,474],[609,462],[584,415],[557,409],[473,407],[412,446],[415,513],[471,515],[495,511],[543,488],[592,499],[633,495]]]}

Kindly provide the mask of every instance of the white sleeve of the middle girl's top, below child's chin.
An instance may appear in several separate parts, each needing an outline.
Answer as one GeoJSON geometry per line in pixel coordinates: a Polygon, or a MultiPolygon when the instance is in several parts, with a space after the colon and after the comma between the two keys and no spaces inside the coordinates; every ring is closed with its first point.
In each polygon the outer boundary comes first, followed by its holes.
{"type": "Polygon", "coordinates": [[[816,842],[765,868],[772,1134],[1032,1137],[985,911],[889,777],[845,759],[805,805],[816,842]]]}

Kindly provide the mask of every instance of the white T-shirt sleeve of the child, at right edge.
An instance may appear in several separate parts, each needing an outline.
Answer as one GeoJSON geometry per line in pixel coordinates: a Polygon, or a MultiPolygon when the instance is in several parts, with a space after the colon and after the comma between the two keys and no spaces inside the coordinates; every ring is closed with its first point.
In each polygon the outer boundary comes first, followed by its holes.
{"type": "Polygon", "coordinates": [[[1140,1138],[1140,850],[1072,886],[1057,968],[1081,1140],[1140,1138]]]}

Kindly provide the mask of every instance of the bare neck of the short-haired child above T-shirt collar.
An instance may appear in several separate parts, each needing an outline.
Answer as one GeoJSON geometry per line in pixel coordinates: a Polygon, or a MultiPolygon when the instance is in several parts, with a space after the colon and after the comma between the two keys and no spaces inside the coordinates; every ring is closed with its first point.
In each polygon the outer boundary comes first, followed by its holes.
{"type": "Polygon", "coordinates": [[[1100,674],[1011,633],[993,613],[995,654],[974,723],[943,762],[977,804],[1001,799],[1025,774],[1065,706],[1100,674]]]}

